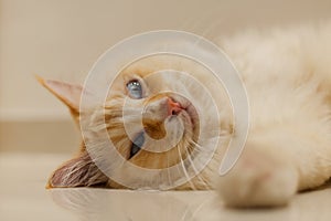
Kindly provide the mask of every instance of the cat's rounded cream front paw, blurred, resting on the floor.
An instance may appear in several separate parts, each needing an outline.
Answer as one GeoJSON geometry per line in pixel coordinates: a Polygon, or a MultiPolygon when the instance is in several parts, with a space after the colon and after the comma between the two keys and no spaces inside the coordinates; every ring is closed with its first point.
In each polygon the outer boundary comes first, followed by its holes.
{"type": "Polygon", "coordinates": [[[298,173],[279,150],[248,145],[216,188],[229,207],[277,207],[289,202],[297,186],[298,173]]]}

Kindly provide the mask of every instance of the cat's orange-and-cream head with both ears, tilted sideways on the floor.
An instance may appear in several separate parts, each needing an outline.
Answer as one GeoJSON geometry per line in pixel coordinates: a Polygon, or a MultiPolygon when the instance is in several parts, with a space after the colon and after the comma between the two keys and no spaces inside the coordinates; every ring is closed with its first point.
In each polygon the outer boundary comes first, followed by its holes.
{"type": "MultiPolygon", "coordinates": [[[[105,150],[98,150],[104,129],[118,157],[125,159],[124,164],[147,170],[174,167],[191,158],[194,150],[203,151],[200,135],[209,130],[214,133],[215,128],[209,128],[209,125],[215,125],[215,122],[217,136],[232,133],[231,107],[222,85],[215,83],[206,69],[183,57],[162,55],[130,64],[115,78],[104,104],[87,110],[79,110],[83,86],[50,80],[40,82],[70,107],[76,123],[88,127],[92,133],[84,139],[95,144],[89,149],[83,145],[78,156],[55,170],[49,187],[107,185],[119,188],[126,186],[122,182],[139,188],[154,187],[152,182],[157,177],[137,176],[126,167],[110,171],[121,183],[100,171],[98,164],[94,164],[95,157],[89,154],[99,151],[99,157],[107,158],[105,150]],[[185,74],[178,75],[169,70],[185,74]],[[181,88],[184,95],[175,88],[181,88]],[[209,93],[202,93],[205,88],[209,93]],[[211,102],[215,101],[216,114],[211,110],[211,102]]],[[[86,94],[93,99],[93,94],[86,94]]]]}

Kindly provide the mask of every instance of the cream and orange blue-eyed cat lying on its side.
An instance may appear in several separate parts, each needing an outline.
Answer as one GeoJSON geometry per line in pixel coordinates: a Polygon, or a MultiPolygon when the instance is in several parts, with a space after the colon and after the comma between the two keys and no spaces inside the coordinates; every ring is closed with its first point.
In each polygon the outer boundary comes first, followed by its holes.
{"type": "MultiPolygon", "coordinates": [[[[218,175],[220,164],[232,137],[236,136],[231,102],[224,86],[196,63],[170,55],[139,60],[117,76],[104,105],[84,113],[79,110],[83,86],[39,80],[70,108],[76,124],[93,125],[94,133],[88,139],[98,139],[98,133],[107,129],[109,139],[125,159],[122,165],[130,162],[146,169],[167,169],[183,164],[195,149],[204,151],[197,144],[199,134],[212,133],[209,125],[216,122],[220,143],[212,159],[195,176],[170,189],[213,189],[229,207],[284,206],[296,192],[317,188],[331,177],[330,40],[330,22],[245,31],[215,40],[238,70],[250,105],[245,148],[225,176],[218,175]],[[200,90],[192,90],[194,85],[190,82],[179,81],[171,74],[150,75],[169,69],[185,71],[207,87],[217,101],[220,119],[212,113],[205,95],[200,90]],[[191,90],[194,104],[203,113],[197,113],[192,101],[172,93],[174,84],[191,90]],[[156,94],[159,90],[168,93],[156,94]],[[131,139],[121,118],[125,105],[129,109],[142,109],[145,131],[135,131],[137,136],[131,139]],[[179,135],[180,125],[184,131],[179,135]],[[143,148],[160,148],[146,137],[161,139],[166,129],[172,131],[171,139],[180,136],[173,148],[160,152],[143,148]]],[[[138,120],[135,116],[128,119],[132,130],[138,120]]],[[[137,175],[125,167],[114,169],[114,176],[128,185],[106,176],[82,143],[78,154],[51,175],[47,188],[162,189],[162,182],[169,181],[158,173],[137,175]]]]}

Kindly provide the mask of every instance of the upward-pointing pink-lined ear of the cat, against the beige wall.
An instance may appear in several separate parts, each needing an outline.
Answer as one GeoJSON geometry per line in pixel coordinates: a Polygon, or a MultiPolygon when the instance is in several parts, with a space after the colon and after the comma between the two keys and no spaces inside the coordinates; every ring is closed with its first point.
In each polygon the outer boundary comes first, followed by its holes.
{"type": "Polygon", "coordinates": [[[61,99],[70,109],[74,113],[79,113],[79,102],[83,92],[82,85],[68,84],[65,82],[44,80],[40,76],[35,76],[36,80],[61,99]]]}

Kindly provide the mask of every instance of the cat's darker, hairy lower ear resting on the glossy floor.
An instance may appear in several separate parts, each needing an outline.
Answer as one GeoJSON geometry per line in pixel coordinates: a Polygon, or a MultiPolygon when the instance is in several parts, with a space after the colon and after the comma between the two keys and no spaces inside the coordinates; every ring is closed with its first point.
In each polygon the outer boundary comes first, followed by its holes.
{"type": "Polygon", "coordinates": [[[97,168],[88,152],[84,150],[56,169],[49,179],[46,188],[105,186],[107,181],[108,177],[97,168]]]}

